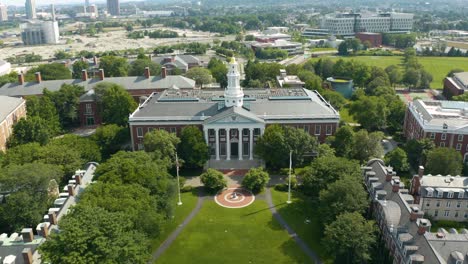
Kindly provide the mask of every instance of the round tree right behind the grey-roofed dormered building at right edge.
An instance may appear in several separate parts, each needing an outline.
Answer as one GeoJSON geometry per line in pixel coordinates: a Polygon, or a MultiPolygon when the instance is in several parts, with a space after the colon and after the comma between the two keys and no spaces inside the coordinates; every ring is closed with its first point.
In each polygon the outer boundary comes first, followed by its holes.
{"type": "Polygon", "coordinates": [[[453,148],[434,148],[427,153],[426,171],[437,175],[460,175],[463,169],[463,158],[453,148]]]}

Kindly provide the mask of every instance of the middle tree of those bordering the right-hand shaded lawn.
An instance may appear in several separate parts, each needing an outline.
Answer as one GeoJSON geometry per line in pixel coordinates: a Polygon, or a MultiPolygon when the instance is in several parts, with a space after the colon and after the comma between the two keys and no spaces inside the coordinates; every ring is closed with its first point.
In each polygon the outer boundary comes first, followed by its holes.
{"type": "Polygon", "coordinates": [[[342,213],[364,213],[368,201],[360,176],[359,173],[342,175],[320,191],[319,211],[323,223],[333,222],[342,213]]]}

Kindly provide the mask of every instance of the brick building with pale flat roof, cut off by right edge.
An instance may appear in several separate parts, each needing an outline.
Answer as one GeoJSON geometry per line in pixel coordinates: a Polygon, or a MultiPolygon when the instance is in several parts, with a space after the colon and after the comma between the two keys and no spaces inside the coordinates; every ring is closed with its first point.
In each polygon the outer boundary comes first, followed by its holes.
{"type": "Polygon", "coordinates": [[[467,161],[468,102],[415,100],[405,115],[407,139],[430,138],[438,147],[454,148],[467,161]]]}

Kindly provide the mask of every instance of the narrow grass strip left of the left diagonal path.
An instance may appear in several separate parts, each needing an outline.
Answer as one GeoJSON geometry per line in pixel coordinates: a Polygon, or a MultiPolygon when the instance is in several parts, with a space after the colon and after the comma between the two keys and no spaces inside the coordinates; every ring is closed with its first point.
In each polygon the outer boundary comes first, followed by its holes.
{"type": "MultiPolygon", "coordinates": [[[[178,197],[174,200],[174,203],[178,202],[178,197]]],[[[159,238],[151,241],[151,251],[155,251],[164,240],[184,221],[184,219],[190,214],[197,204],[198,196],[196,191],[193,193],[187,192],[181,194],[182,205],[175,205],[174,218],[170,219],[163,226],[163,231],[159,238]]]]}

